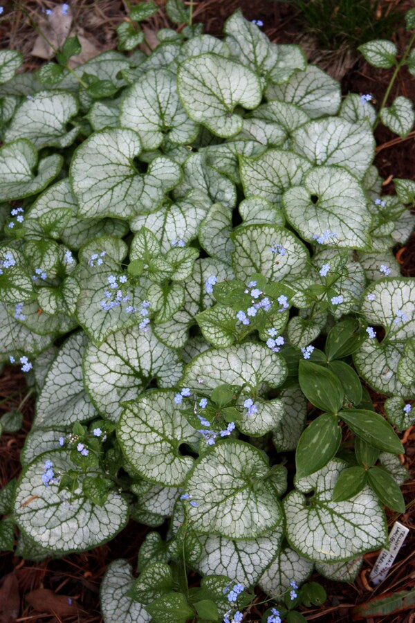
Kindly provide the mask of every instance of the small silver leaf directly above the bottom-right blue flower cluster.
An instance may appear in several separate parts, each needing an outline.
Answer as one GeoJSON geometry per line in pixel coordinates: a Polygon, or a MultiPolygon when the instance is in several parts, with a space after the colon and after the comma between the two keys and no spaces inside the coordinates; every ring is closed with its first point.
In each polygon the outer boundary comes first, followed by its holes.
{"type": "Polygon", "coordinates": [[[311,561],[286,546],[259,578],[258,585],[264,593],[281,600],[290,590],[292,581],[299,586],[310,577],[313,566],[311,561]]]}

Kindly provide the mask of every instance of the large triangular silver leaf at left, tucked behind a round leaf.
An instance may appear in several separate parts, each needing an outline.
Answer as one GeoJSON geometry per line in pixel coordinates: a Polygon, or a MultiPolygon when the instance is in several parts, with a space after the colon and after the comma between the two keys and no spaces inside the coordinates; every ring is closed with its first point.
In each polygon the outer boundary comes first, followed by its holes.
{"type": "Polygon", "coordinates": [[[69,426],[96,415],[82,382],[82,354],[88,338],[70,336],[53,361],[36,402],[36,428],[69,426]]]}

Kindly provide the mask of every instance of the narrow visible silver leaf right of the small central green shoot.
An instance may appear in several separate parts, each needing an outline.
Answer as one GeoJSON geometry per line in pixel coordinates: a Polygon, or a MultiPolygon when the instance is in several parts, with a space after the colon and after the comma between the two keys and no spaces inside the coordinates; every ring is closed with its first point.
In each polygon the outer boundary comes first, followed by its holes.
{"type": "Polygon", "coordinates": [[[216,275],[218,281],[234,279],[234,272],[228,264],[223,264],[223,262],[213,258],[196,260],[192,276],[185,282],[185,305],[183,309],[174,314],[167,323],[154,326],[154,334],[167,346],[172,348],[183,347],[189,337],[188,329],[196,324],[196,314],[208,309],[215,303],[213,294],[206,292],[205,288],[205,282],[211,275],[216,275]]]}

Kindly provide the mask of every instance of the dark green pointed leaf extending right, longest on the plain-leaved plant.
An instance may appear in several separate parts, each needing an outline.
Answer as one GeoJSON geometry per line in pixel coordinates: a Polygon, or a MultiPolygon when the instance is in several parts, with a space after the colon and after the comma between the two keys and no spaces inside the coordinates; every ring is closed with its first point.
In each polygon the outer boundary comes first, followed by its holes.
{"type": "Polygon", "coordinates": [[[385,452],[403,454],[405,452],[390,424],[378,413],[366,409],[344,410],[339,413],[343,422],[367,443],[385,452]]]}

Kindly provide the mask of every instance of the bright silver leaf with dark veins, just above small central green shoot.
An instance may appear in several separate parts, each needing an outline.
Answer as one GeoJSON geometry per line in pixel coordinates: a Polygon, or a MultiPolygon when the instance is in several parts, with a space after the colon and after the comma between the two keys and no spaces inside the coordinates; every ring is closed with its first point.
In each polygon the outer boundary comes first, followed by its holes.
{"type": "Polygon", "coordinates": [[[208,213],[210,201],[201,192],[190,192],[174,204],[166,204],[151,214],[140,214],[130,220],[132,231],[146,227],[157,238],[164,253],[172,249],[174,240],[183,240],[185,244],[194,240],[199,225],[208,213]]]}

